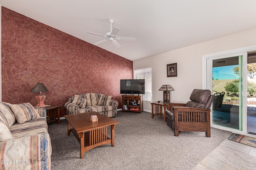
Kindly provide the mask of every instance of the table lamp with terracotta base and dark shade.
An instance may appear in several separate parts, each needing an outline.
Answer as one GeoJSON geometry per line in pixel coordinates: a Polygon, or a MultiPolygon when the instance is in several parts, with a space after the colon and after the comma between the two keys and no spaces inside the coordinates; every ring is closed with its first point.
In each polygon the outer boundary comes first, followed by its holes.
{"type": "Polygon", "coordinates": [[[37,105],[36,107],[44,107],[44,100],[46,96],[44,95],[44,92],[48,92],[48,89],[44,86],[43,83],[38,83],[36,86],[31,90],[31,92],[34,93],[40,93],[39,95],[35,96],[37,105]]]}

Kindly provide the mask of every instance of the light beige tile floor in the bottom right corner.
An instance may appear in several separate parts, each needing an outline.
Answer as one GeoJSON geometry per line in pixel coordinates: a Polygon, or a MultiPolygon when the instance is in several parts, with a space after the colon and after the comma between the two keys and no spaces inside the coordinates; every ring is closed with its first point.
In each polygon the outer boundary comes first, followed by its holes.
{"type": "Polygon", "coordinates": [[[256,170],[256,148],[226,139],[194,170],[256,170]]]}

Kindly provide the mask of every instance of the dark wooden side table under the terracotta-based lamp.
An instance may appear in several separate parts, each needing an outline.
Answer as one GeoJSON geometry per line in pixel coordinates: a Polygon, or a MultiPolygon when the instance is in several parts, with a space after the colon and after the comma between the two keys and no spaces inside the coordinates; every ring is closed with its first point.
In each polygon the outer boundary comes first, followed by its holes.
{"type": "Polygon", "coordinates": [[[50,118],[47,123],[57,121],[57,123],[60,124],[60,107],[61,105],[51,105],[44,107],[47,111],[47,116],[50,118]]]}

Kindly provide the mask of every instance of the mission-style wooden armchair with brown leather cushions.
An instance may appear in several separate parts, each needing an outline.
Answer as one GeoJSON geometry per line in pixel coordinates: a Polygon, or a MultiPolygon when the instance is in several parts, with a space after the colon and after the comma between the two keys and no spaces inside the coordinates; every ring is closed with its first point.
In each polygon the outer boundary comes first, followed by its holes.
{"type": "Polygon", "coordinates": [[[166,123],[178,136],[179,131],[205,132],[211,137],[210,107],[214,96],[210,90],[194,89],[186,104],[168,104],[166,123]]]}

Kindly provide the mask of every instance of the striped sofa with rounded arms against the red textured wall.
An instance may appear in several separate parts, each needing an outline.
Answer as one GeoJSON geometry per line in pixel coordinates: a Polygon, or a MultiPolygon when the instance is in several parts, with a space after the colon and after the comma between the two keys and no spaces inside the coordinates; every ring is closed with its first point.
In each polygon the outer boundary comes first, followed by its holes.
{"type": "Polygon", "coordinates": [[[79,94],[68,98],[64,107],[67,115],[96,111],[107,117],[115,117],[118,101],[111,98],[112,96],[99,93],[79,94]]]}

